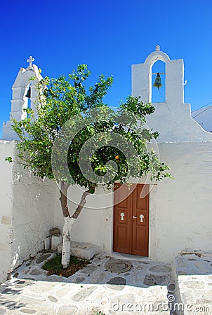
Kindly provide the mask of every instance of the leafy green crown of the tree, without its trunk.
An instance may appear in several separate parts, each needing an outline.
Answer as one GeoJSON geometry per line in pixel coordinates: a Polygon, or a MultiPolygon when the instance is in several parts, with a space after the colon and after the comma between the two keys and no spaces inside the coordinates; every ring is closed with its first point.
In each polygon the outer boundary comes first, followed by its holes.
{"type": "MultiPolygon", "coordinates": [[[[129,168],[131,168],[131,175],[135,177],[152,174],[152,179],[157,181],[170,177],[166,172],[168,166],[161,163],[153,151],[147,152],[146,149],[147,143],[159,136],[158,132],[144,127],[145,117],[154,112],[154,106],[141,102],[140,97],[130,96],[126,102],[121,103],[117,112],[114,112],[104,104],[104,97],[112,85],[112,76],[105,78],[101,75],[87,92],[85,81],[90,74],[86,64],[81,64],[76,71],[69,74],[68,78],[46,77],[38,83],[37,113],[32,109],[25,109],[27,118],[20,122],[13,120],[13,130],[20,139],[17,144],[18,158],[24,167],[31,169],[34,175],[41,178],[47,176],[49,179],[55,179],[51,164],[55,139],[58,134],[65,139],[68,132],[63,129],[65,123],[79,115],[78,124],[83,125],[85,120],[87,123],[70,140],[66,160],[60,160],[58,169],[60,178],[55,180],[70,181],[70,176],[62,172],[67,163],[73,179],[70,183],[77,183],[94,193],[98,183],[89,181],[89,176],[86,178],[81,172],[80,152],[84,144],[87,144],[88,149],[93,152],[86,160],[91,164],[91,169],[85,166],[86,174],[89,175],[91,170],[97,176],[105,176],[110,172],[113,177],[108,181],[107,188],[110,188],[110,184],[115,181],[124,183],[128,178],[129,168]],[[139,126],[138,120],[140,120],[139,126]],[[123,137],[122,139],[126,139],[128,144],[132,144],[137,157],[126,158],[121,147],[113,146],[113,134],[123,137]],[[92,142],[89,146],[89,139],[93,137],[98,137],[98,141],[92,142]],[[98,146],[99,144],[102,146],[98,146]],[[135,163],[135,158],[138,158],[139,165],[135,163]]],[[[77,126],[69,125],[69,127],[74,130],[77,126]]],[[[58,150],[60,153],[60,148],[58,150]]],[[[12,162],[11,157],[6,160],[12,162]]]]}

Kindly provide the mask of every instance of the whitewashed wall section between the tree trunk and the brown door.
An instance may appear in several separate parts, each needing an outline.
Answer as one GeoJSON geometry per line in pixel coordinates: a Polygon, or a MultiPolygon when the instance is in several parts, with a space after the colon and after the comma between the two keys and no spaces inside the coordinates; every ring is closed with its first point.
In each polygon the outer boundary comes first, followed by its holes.
{"type": "MultiPolygon", "coordinates": [[[[82,195],[78,186],[68,190],[69,210],[71,214],[77,208],[82,195]]],[[[112,195],[105,194],[101,188],[87,197],[86,207],[81,211],[72,228],[72,240],[98,245],[102,251],[112,250],[112,195]]],[[[62,229],[63,218],[60,202],[55,202],[55,225],[62,229]]]]}

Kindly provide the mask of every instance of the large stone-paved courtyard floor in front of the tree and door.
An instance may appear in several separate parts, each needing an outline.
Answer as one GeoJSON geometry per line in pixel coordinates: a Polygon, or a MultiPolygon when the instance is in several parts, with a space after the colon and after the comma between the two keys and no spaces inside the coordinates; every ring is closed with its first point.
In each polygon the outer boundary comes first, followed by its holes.
{"type": "Polygon", "coordinates": [[[39,253],[0,286],[0,315],[170,314],[171,265],[97,255],[69,278],[46,276],[41,266],[53,255],[39,253]]]}

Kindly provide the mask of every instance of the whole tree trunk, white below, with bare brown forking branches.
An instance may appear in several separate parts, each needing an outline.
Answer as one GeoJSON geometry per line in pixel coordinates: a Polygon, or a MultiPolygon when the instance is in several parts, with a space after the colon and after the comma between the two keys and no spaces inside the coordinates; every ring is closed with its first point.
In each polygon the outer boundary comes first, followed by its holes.
{"type": "Polygon", "coordinates": [[[67,205],[67,190],[69,188],[69,184],[64,181],[60,181],[60,203],[62,207],[62,214],[65,219],[65,223],[63,225],[62,230],[62,267],[67,268],[69,265],[70,257],[71,257],[71,232],[72,225],[77,220],[81,210],[86,204],[87,195],[91,194],[91,190],[86,190],[82,196],[81,201],[77,209],[74,211],[73,216],[71,217],[69,214],[69,209],[67,205]]]}

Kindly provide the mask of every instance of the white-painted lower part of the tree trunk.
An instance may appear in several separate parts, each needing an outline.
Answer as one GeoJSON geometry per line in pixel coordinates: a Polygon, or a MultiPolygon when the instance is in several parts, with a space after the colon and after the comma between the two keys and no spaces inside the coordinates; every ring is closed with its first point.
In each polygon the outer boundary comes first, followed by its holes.
{"type": "Polygon", "coordinates": [[[66,217],[62,230],[62,267],[67,268],[71,257],[71,232],[74,218],[66,217]]]}

